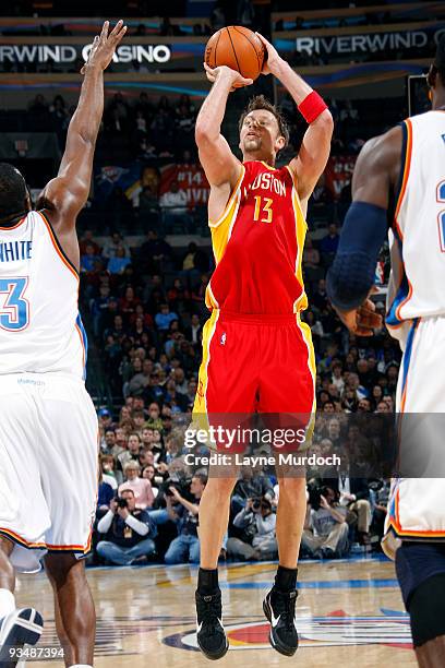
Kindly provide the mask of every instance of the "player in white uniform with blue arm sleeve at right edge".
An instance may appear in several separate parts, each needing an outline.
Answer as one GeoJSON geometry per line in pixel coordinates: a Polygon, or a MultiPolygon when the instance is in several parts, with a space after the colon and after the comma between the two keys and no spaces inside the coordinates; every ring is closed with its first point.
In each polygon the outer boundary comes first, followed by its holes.
{"type": "MultiPolygon", "coordinates": [[[[428,83],[431,111],[363,146],[352,179],[353,201],[327,275],[328,296],[342,322],[354,334],[372,334],[381,319],[368,295],[389,226],[386,324],[404,350],[399,414],[445,413],[445,36],[428,83]]],[[[421,451],[422,443],[417,445],[421,451]]],[[[385,552],[396,560],[422,668],[445,666],[443,494],[442,478],[393,481],[383,539],[385,552]]]]}

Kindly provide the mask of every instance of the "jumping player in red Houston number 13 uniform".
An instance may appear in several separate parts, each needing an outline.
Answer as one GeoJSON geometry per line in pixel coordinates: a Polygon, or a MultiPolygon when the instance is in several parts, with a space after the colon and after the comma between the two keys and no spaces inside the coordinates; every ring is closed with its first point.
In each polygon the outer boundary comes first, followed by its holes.
{"type": "MultiPolygon", "coordinates": [[[[315,365],[301,273],[308,200],[323,172],[333,119],[323,99],[275,48],[267,49],[263,74],[275,75],[309,123],[298,155],[275,168],[288,143],[288,129],[263,96],[240,118],[242,162],[220,133],[229,93],[245,86],[228,67],[205,65],[212,90],[196,120],[200,159],[211,183],[208,220],[216,270],[206,294],[212,315],[203,334],[203,363],[194,414],[305,414],[315,408],[315,365]]],[[[196,591],[197,642],[212,659],[228,642],[221,622],[217,562],[227,529],[236,475],[212,477],[200,505],[201,568],[196,591]]],[[[279,477],[277,515],[279,566],[264,600],[270,643],[292,656],[297,559],[306,508],[305,480],[279,477]]]]}

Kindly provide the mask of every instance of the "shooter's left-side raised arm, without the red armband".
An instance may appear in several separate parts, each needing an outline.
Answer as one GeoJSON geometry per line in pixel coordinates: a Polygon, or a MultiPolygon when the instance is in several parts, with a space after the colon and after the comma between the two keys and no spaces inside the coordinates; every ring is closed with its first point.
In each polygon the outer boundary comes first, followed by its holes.
{"type": "Polygon", "coordinates": [[[204,64],[204,68],[213,86],[196,118],[195,140],[200,160],[211,186],[234,186],[241,163],[231,152],[220,130],[230,91],[234,86],[250,85],[252,80],[244,79],[225,65],[211,69],[204,64]]]}

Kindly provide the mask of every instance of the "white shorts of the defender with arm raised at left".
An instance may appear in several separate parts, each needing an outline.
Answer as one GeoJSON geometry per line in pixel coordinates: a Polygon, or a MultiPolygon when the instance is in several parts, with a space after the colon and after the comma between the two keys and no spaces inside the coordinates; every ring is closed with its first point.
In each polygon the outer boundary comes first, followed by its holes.
{"type": "Polygon", "coordinates": [[[97,499],[98,426],[82,380],[0,374],[0,534],[20,571],[46,551],[89,550],[97,499]]]}

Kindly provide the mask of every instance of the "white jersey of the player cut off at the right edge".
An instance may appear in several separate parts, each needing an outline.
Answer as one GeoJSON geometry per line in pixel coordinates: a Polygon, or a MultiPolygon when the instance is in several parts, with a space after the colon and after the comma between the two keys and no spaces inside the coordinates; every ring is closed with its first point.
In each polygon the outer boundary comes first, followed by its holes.
{"type": "Polygon", "coordinates": [[[404,345],[410,321],[445,314],[445,111],[408,118],[402,131],[386,322],[404,345]]]}

